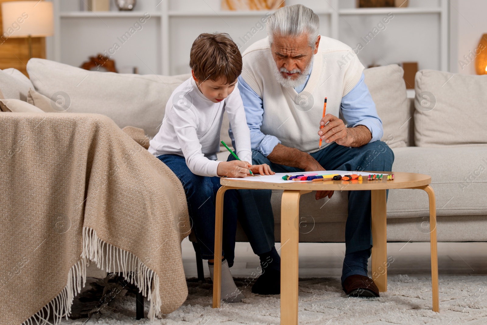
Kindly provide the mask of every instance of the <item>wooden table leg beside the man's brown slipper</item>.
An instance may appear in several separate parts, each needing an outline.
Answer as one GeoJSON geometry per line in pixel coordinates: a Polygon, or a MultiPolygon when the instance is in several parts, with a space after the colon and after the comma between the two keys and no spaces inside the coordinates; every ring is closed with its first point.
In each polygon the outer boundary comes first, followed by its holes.
{"type": "Polygon", "coordinates": [[[379,292],[387,291],[387,206],[386,190],[371,191],[372,280],[379,292]]]}

